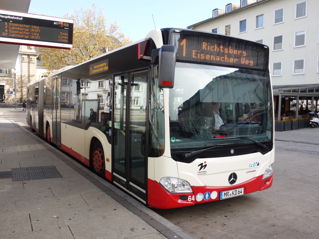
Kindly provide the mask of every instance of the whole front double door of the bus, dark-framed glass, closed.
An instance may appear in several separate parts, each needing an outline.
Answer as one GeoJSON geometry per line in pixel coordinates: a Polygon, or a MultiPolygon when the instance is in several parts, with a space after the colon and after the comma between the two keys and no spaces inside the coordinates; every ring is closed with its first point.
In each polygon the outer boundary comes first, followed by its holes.
{"type": "Polygon", "coordinates": [[[115,76],[113,182],[146,202],[148,71],[115,76]]]}

